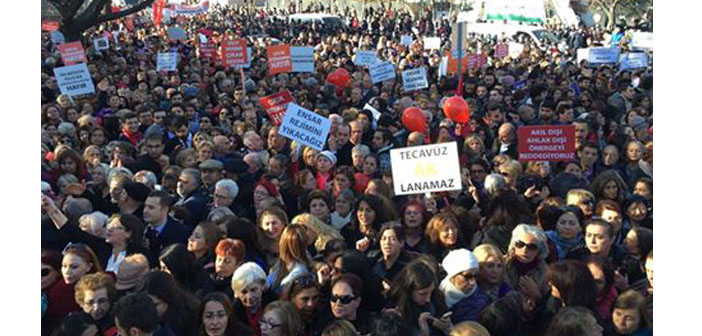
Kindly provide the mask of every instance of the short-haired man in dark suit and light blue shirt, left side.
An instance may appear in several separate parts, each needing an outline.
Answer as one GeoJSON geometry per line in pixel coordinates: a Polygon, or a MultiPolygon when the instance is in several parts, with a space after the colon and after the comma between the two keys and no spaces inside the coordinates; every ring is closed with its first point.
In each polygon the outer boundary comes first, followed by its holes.
{"type": "Polygon", "coordinates": [[[185,244],[190,236],[190,229],[168,216],[173,200],[162,190],[154,190],[144,202],[144,222],[148,224],[144,235],[149,242],[149,249],[154,255],[171,244],[185,244]]]}

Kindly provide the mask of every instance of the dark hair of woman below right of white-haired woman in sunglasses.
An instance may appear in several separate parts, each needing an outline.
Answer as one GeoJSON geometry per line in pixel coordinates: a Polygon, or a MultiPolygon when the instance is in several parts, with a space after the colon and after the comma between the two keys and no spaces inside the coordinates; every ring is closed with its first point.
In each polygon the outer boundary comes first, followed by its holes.
{"type": "Polygon", "coordinates": [[[558,289],[564,306],[595,308],[597,285],[582,261],[563,260],[549,265],[546,280],[558,289]]]}

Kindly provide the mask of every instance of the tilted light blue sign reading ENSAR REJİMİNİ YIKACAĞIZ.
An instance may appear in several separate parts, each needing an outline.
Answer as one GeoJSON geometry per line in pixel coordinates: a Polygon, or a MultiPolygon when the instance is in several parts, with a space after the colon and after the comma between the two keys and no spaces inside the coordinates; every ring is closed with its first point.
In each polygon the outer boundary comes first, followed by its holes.
{"type": "Polygon", "coordinates": [[[323,150],[327,142],[331,121],[295,103],[288,104],[280,135],[316,150],[323,150]]]}

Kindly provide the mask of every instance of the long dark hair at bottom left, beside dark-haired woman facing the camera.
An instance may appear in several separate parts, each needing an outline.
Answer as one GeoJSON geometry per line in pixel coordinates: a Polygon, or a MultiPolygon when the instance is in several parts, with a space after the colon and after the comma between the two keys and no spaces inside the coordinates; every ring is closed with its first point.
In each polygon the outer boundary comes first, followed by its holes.
{"type": "Polygon", "coordinates": [[[195,332],[199,302],[195,296],[183,291],[170,274],[163,271],[147,273],[139,291],[168,304],[160,320],[176,335],[192,335],[195,332]]]}

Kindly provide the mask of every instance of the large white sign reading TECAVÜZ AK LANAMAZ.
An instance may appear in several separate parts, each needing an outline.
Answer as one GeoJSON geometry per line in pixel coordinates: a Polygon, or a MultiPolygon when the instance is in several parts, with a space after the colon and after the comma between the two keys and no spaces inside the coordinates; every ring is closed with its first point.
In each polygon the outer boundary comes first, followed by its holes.
{"type": "Polygon", "coordinates": [[[455,141],[391,149],[390,160],[395,195],[462,188],[455,141]]]}

